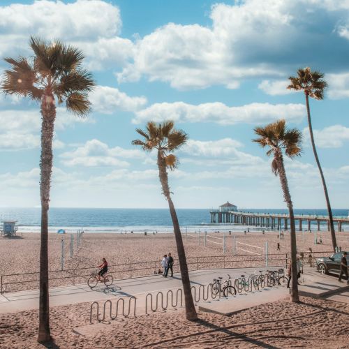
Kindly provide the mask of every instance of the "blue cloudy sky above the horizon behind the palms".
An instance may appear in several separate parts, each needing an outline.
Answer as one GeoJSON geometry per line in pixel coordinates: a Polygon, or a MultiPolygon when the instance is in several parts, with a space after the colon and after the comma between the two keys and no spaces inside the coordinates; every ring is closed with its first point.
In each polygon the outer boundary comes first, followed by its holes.
{"type": "MultiPolygon", "coordinates": [[[[285,158],[295,208],[325,208],[302,92],[288,77],[325,73],[310,101],[315,144],[333,208],[349,198],[348,0],[76,0],[0,3],[2,58],[30,57],[29,36],[84,52],[96,80],[92,112],[57,105],[51,207],[168,207],[156,154],[131,144],[147,121],[188,133],[169,175],[174,205],[285,208],[271,158],[253,128],[285,119],[304,134],[285,158]]],[[[38,207],[40,108],[0,94],[0,207],[38,207]]]]}

